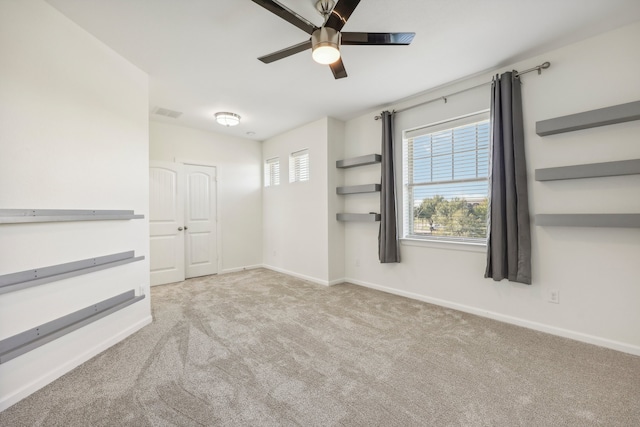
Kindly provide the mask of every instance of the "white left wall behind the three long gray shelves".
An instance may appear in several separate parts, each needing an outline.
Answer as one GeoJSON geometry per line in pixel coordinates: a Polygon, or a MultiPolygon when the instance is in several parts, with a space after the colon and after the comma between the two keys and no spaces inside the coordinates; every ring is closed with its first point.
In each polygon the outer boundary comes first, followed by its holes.
{"type": "MultiPolygon", "coordinates": [[[[135,250],[144,261],[0,295],[4,339],[148,293],[148,78],[48,4],[0,3],[0,209],[145,219],[0,225],[0,274],[135,250]]],[[[0,410],[151,322],[146,298],[0,365],[0,410]]]]}

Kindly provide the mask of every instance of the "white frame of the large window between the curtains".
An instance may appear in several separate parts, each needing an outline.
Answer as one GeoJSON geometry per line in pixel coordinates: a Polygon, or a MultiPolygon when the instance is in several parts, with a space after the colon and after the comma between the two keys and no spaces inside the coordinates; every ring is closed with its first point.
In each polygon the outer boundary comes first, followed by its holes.
{"type": "MultiPolygon", "coordinates": [[[[441,120],[438,122],[433,122],[427,125],[421,125],[414,128],[405,129],[402,131],[402,212],[401,212],[401,237],[400,241],[403,245],[408,246],[425,246],[425,247],[435,247],[441,249],[456,249],[456,250],[468,250],[472,252],[483,252],[486,251],[487,246],[487,237],[455,237],[455,236],[429,236],[429,235],[418,235],[418,234],[410,234],[412,230],[410,222],[414,221],[414,204],[412,191],[409,190],[410,185],[413,186],[413,183],[409,182],[409,169],[410,169],[410,156],[409,156],[409,139],[418,138],[420,136],[425,136],[429,134],[433,134],[436,132],[454,129],[457,127],[467,126],[473,123],[485,122],[489,123],[489,170],[487,172],[486,183],[487,183],[487,199],[489,198],[489,185],[491,182],[491,167],[490,167],[490,157],[491,157],[491,120],[490,120],[490,110],[483,109],[480,111],[476,111],[470,114],[465,114],[462,116],[458,116],[455,118],[450,118],[446,120],[441,120]],[[411,208],[409,206],[411,205],[411,208]]],[[[477,159],[477,155],[476,155],[477,159]]],[[[412,160],[413,162],[413,160],[412,160]]],[[[451,182],[455,183],[457,180],[452,179],[451,182]]],[[[460,179],[461,182],[464,182],[464,179],[460,179]]],[[[488,232],[488,229],[487,229],[488,232]]]]}

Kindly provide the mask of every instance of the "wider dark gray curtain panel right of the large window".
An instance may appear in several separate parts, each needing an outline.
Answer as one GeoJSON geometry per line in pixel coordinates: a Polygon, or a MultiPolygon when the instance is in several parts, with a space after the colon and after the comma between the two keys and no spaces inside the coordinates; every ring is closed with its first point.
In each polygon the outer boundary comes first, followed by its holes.
{"type": "Polygon", "coordinates": [[[494,78],[491,89],[491,183],[484,277],[531,284],[520,79],[515,71],[506,72],[494,78]]]}

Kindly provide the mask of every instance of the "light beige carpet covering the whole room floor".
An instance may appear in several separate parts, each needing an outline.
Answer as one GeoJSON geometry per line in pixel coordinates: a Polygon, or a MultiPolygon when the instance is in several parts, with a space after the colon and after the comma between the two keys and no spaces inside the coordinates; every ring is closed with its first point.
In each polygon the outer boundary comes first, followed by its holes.
{"type": "Polygon", "coordinates": [[[640,425],[640,357],[262,269],[151,297],[152,325],[0,425],[640,425]]]}

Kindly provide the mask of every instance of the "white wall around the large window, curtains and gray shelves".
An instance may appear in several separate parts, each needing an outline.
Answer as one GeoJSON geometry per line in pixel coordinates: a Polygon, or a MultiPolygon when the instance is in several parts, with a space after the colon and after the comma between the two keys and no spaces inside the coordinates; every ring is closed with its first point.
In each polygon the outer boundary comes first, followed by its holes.
{"type": "MultiPolygon", "coordinates": [[[[534,170],[640,158],[640,122],[539,137],[535,122],[640,99],[640,23],[514,64],[544,61],[541,76],[523,77],[524,121],[532,216],[537,213],[640,212],[640,175],[536,182],[534,170]]],[[[499,72],[511,67],[498,70],[499,72]]],[[[393,106],[417,104],[488,82],[485,73],[393,106]]],[[[489,107],[490,86],[399,113],[401,131],[489,107]]],[[[348,121],[346,157],[379,153],[378,111],[348,121]]],[[[379,165],[349,170],[346,184],[371,181],[379,165]]],[[[398,168],[399,182],[401,167],[398,168]]],[[[374,182],[374,181],[371,181],[374,182]]],[[[401,193],[401,191],[399,191],[401,193]]],[[[377,199],[349,198],[346,210],[376,210],[377,199]]],[[[554,334],[640,354],[640,229],[538,227],[532,224],[533,284],[484,279],[485,253],[471,248],[403,244],[402,263],[377,260],[378,225],[345,229],[346,276],[372,288],[432,301],[554,334]],[[357,266],[356,264],[359,264],[357,266]],[[560,304],[547,302],[551,289],[560,304]]]]}

